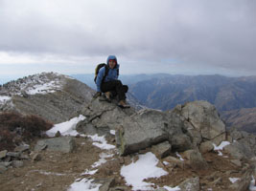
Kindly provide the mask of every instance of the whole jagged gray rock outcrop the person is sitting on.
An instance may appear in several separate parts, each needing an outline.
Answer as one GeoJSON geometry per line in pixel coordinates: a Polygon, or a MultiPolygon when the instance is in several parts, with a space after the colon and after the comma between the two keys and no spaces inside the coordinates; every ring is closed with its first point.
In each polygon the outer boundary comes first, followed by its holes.
{"type": "Polygon", "coordinates": [[[204,139],[214,140],[225,133],[216,109],[206,101],[163,113],[151,109],[122,110],[97,98],[84,106],[81,114],[86,119],[77,126],[79,131],[105,134],[116,130],[116,143],[124,156],[165,141],[169,141],[173,151],[185,151],[197,148],[204,139]]]}

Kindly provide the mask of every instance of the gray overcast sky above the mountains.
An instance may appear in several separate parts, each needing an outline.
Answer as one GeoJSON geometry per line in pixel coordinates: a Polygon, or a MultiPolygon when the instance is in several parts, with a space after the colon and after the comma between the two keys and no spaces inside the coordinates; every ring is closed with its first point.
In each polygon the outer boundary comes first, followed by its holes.
{"type": "Polygon", "coordinates": [[[256,75],[255,0],[0,0],[0,75],[256,75]]]}

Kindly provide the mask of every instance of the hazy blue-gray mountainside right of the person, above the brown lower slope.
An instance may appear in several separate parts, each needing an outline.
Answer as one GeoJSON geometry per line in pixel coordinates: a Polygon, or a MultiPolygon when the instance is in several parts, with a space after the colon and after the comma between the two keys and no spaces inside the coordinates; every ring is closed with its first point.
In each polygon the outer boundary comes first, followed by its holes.
{"type": "Polygon", "coordinates": [[[130,93],[146,106],[161,110],[186,101],[207,100],[226,111],[256,107],[255,87],[253,77],[173,75],[140,81],[130,86],[130,93]]]}

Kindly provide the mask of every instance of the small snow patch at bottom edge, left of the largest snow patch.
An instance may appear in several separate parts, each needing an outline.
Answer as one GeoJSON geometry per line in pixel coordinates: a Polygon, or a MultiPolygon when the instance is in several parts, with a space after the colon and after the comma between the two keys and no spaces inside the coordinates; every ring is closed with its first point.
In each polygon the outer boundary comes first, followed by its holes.
{"type": "Polygon", "coordinates": [[[93,183],[93,180],[76,180],[72,183],[68,189],[68,191],[98,191],[102,184],[100,183],[93,183]]]}

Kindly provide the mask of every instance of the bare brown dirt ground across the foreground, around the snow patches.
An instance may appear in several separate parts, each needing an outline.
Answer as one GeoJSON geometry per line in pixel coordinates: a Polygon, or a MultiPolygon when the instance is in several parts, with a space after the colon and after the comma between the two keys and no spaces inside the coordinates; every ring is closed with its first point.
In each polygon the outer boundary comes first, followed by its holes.
{"type": "MultiPolygon", "coordinates": [[[[42,151],[39,161],[24,160],[23,167],[8,169],[4,174],[0,174],[0,190],[62,191],[67,190],[75,180],[86,177],[114,178],[115,186],[126,186],[126,181],[120,176],[120,169],[123,165],[130,163],[132,158],[135,160],[137,158],[135,155],[122,158],[118,156],[116,150],[113,150],[113,156],[98,167],[97,173],[81,175],[86,169],[92,170],[92,164],[99,161],[100,154],[105,151],[92,145],[90,138],[75,138],[75,140],[77,148],[73,153],[42,151]]],[[[184,165],[183,168],[172,164],[165,165],[164,159],[161,159],[158,166],[168,171],[169,175],[147,181],[155,183],[155,187],[164,185],[175,187],[183,180],[199,177],[200,190],[221,191],[228,190],[231,184],[229,178],[242,176],[244,165],[237,167],[230,162],[230,157],[223,158],[217,153],[208,153],[203,157],[209,165],[209,168],[204,171],[196,171],[189,165],[184,165]]],[[[130,190],[130,187],[127,187],[127,190],[130,190]]]]}

